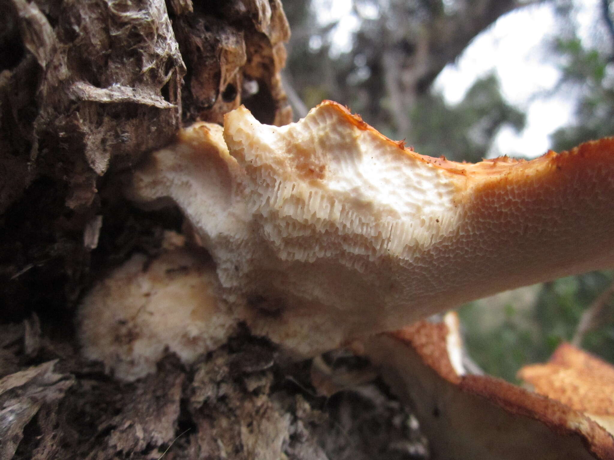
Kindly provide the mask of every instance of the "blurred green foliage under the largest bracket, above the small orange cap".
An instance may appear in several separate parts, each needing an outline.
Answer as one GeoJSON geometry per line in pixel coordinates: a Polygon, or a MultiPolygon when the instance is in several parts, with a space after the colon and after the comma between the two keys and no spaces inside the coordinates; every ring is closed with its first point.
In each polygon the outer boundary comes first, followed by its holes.
{"type": "MultiPolygon", "coordinates": [[[[532,362],[544,362],[561,342],[575,334],[582,313],[610,284],[614,272],[591,272],[544,283],[532,305],[505,305],[505,316],[486,321],[495,305],[472,302],[459,310],[470,356],[488,374],[516,380],[516,372],[532,362]]],[[[614,318],[585,335],[585,350],[614,362],[614,318]]]]}

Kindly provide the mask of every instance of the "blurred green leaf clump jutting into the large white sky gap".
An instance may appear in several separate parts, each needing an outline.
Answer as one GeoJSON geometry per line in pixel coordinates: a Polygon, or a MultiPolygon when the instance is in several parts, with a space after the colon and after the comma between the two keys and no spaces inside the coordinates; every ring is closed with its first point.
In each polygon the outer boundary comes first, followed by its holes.
{"type": "Polygon", "coordinates": [[[422,155],[475,162],[486,156],[503,125],[520,131],[525,116],[505,101],[497,77],[488,75],[456,105],[446,104],[441,94],[422,96],[411,121],[410,139],[422,155]]]}

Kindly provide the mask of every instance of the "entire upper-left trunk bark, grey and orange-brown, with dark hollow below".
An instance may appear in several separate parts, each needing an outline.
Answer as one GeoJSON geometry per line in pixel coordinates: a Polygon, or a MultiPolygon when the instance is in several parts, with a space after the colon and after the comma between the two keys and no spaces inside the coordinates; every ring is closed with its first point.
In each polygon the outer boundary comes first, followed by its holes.
{"type": "Polygon", "coordinates": [[[279,0],[10,0],[0,12],[6,40],[20,44],[0,63],[0,213],[10,222],[0,228],[0,302],[15,318],[41,304],[24,293],[45,280],[45,302],[76,300],[97,215],[109,250],[122,218],[110,168],[168,144],[182,122],[221,123],[241,103],[264,122],[290,121],[279,0]]]}

